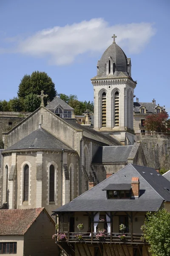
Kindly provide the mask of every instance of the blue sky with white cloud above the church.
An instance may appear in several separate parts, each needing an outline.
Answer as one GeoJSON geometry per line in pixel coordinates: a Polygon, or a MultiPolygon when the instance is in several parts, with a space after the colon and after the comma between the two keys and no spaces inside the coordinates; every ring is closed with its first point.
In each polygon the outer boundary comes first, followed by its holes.
{"type": "Polygon", "coordinates": [[[93,101],[90,79],[116,34],[139,102],[154,98],[170,113],[169,13],[169,0],[0,0],[0,99],[38,70],[58,93],[93,101]]]}

